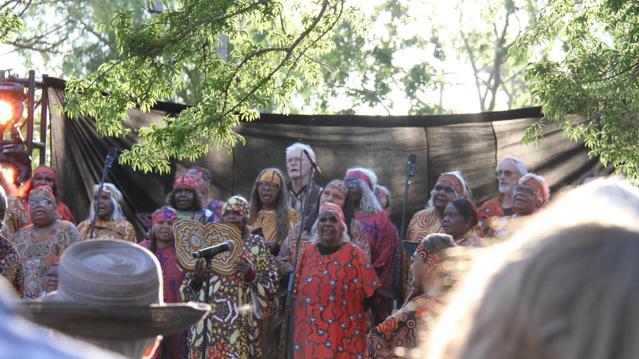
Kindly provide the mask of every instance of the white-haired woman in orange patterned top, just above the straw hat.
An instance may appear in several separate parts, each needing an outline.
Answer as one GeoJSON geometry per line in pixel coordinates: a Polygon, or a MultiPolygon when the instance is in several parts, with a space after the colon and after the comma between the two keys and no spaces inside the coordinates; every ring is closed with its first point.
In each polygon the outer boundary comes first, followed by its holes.
{"type": "MultiPolygon", "coordinates": [[[[91,222],[96,214],[96,204],[98,201],[98,190],[100,185],[93,185],[93,201],[89,210],[89,218],[78,225],[83,240],[89,240],[91,237],[91,222]]],[[[122,214],[122,192],[119,192],[112,183],[104,183],[102,187],[102,197],[100,198],[100,206],[97,209],[98,220],[95,221],[93,229],[94,240],[123,240],[133,243],[137,242],[135,238],[135,229],[122,214]]]]}

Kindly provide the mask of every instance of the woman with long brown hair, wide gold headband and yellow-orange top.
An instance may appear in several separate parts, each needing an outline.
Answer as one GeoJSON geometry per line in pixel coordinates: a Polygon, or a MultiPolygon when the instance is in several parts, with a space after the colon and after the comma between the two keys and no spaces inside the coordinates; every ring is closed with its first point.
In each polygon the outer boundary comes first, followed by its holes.
{"type": "Polygon", "coordinates": [[[297,212],[288,206],[284,174],[276,168],[259,172],[250,191],[250,225],[262,229],[266,242],[282,244],[291,223],[298,222],[297,212]]]}

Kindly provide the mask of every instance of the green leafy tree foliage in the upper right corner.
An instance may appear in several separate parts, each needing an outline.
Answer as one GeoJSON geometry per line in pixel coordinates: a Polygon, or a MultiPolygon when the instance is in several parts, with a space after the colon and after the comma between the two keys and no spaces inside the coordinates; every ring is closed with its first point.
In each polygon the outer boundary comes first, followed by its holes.
{"type": "Polygon", "coordinates": [[[639,3],[553,1],[518,49],[555,38],[564,40],[565,56],[530,63],[526,71],[545,117],[523,142],[538,141],[543,123],[555,123],[570,139],[583,139],[590,157],[639,178],[639,3]]]}

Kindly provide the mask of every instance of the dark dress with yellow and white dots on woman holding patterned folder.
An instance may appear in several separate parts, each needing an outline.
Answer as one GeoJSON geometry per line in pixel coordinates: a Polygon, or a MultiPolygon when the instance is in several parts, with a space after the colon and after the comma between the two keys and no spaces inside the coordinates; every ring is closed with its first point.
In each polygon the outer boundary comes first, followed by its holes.
{"type": "MultiPolygon", "coordinates": [[[[240,273],[212,273],[208,286],[211,312],[187,333],[189,359],[202,358],[203,340],[208,342],[205,358],[263,357],[261,329],[268,319],[264,314],[277,288],[277,270],[260,236],[250,234],[243,240],[242,249],[247,261],[256,268],[255,278],[247,282],[240,273]]],[[[186,273],[180,287],[182,300],[204,302],[204,286],[194,287],[192,275],[192,272],[186,273]]]]}

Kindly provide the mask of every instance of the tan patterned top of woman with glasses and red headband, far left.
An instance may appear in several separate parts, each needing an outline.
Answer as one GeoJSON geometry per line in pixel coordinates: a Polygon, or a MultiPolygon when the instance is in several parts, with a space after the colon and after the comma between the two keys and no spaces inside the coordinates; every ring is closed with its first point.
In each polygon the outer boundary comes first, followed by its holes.
{"type": "Polygon", "coordinates": [[[81,241],[75,225],[56,219],[47,227],[29,224],[13,235],[13,244],[24,267],[24,294],[38,298],[45,291],[44,275],[56,263],[66,248],[81,241]]]}

